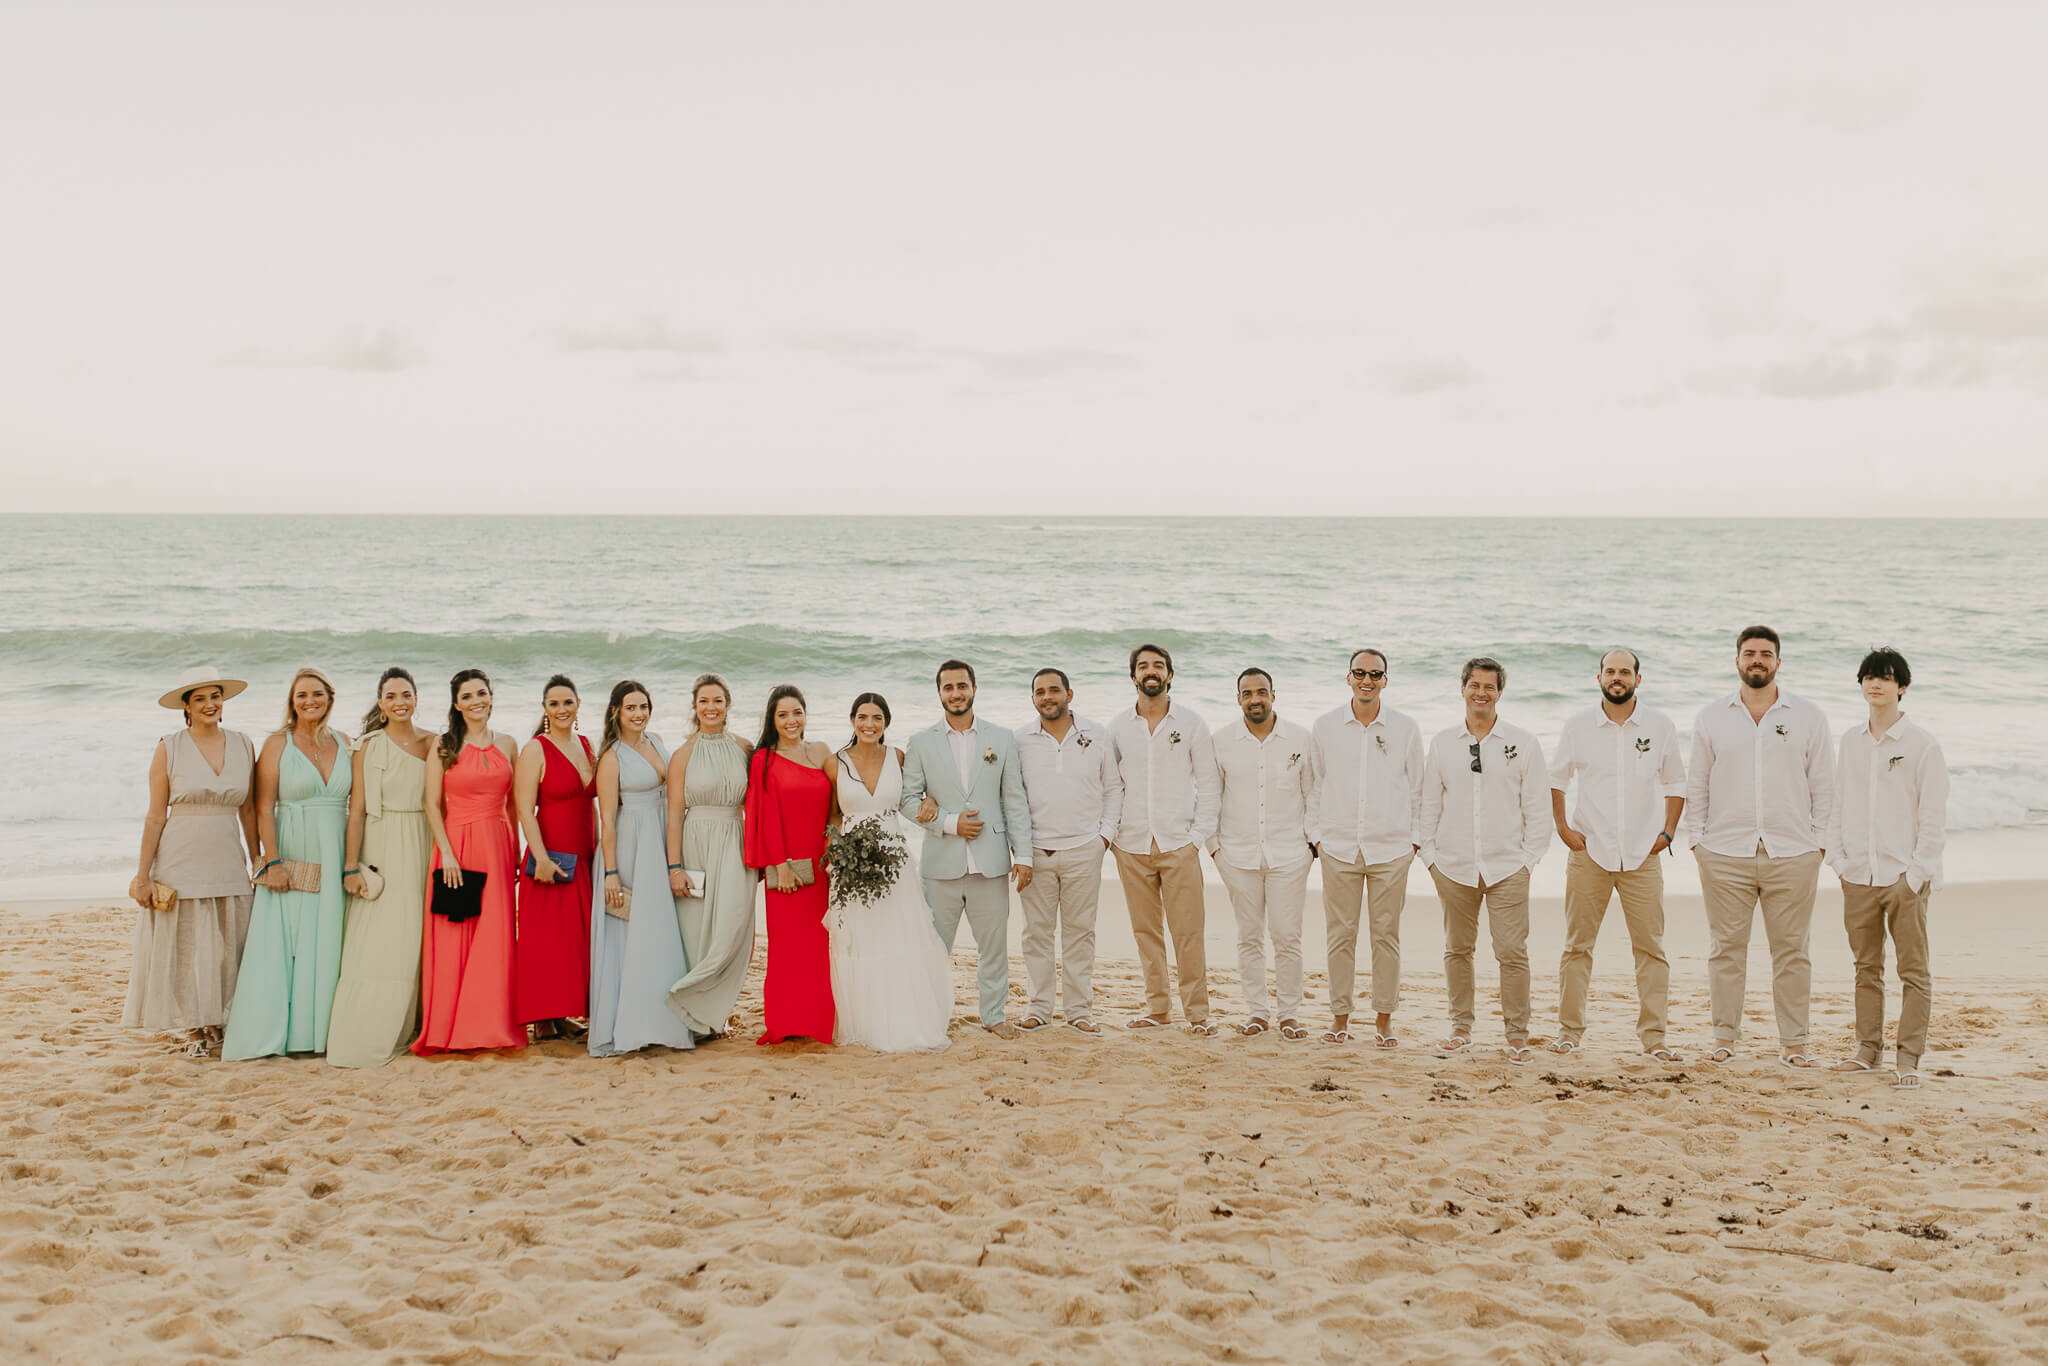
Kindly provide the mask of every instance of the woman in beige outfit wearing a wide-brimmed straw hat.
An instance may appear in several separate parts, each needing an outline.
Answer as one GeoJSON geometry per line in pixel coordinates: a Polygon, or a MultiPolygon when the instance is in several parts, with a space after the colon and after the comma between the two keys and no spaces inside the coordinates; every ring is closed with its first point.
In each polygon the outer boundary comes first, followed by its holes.
{"type": "Polygon", "coordinates": [[[256,745],[221,727],[248,684],[215,668],[186,670],[158,702],[184,713],[150,758],[150,815],[129,897],[135,967],[121,1024],[186,1030],[188,1057],[211,1057],[236,995],[250,932],[256,838],[256,745]],[[162,907],[162,909],[158,909],[162,907]]]}

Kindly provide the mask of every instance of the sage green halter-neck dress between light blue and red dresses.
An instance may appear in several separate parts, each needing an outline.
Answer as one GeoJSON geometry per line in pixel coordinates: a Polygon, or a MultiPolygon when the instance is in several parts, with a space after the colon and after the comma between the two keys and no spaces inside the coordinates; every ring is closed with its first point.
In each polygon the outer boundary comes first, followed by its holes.
{"type": "Polygon", "coordinates": [[[694,1034],[723,1034],[754,963],[758,881],[741,858],[748,758],[729,731],[698,735],[682,776],[682,866],[702,870],[702,897],[676,897],[688,975],[668,1006],[694,1034]]]}

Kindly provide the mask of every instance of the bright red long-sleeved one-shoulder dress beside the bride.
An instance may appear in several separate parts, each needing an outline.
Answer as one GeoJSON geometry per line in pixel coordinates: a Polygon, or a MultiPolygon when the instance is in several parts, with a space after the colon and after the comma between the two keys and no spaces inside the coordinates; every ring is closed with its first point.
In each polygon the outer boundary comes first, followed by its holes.
{"type": "Polygon", "coordinates": [[[817,881],[793,893],[768,879],[768,977],[762,983],[762,1036],[831,1042],[831,940],[825,934],[825,817],[831,776],[819,768],[756,750],[748,764],[745,862],[772,868],[791,858],[817,860],[817,881]]]}

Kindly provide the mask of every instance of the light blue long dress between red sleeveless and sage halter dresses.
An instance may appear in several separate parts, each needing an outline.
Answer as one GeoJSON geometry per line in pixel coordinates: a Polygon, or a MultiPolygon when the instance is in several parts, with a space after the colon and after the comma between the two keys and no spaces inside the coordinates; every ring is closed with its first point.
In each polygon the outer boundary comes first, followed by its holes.
{"type": "MultiPolygon", "coordinates": [[[[690,1026],[668,1008],[668,989],[688,971],[676,897],[668,891],[668,750],[649,735],[662,768],[631,745],[618,754],[618,881],[631,915],[604,909],[604,868],[594,868],[590,907],[590,1055],[618,1057],[649,1044],[690,1049],[690,1026]]],[[[598,846],[602,858],[604,846],[598,846]]]]}

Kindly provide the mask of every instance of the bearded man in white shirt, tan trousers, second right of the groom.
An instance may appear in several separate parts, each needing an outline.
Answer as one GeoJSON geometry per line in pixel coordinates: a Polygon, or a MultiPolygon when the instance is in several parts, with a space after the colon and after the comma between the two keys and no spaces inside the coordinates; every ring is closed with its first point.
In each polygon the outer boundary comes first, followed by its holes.
{"type": "Polygon", "coordinates": [[[1217,834],[1217,750],[1208,725],[1174,705],[1174,655],[1163,645],[1130,651],[1130,684],[1137,707],[1110,723],[1110,739],[1124,782],[1116,877],[1145,973],[1145,1014],[1124,1028],[1157,1030],[1171,1018],[1165,965],[1171,936],[1188,1032],[1214,1038],[1202,944],[1202,846],[1217,834]]]}

